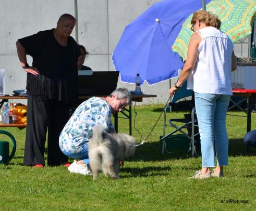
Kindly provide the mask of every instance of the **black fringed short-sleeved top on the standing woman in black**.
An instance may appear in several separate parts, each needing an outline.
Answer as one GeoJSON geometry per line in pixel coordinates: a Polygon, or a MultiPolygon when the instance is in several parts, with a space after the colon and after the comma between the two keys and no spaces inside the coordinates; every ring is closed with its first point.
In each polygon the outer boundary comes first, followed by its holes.
{"type": "Polygon", "coordinates": [[[39,75],[27,74],[27,94],[76,105],[77,59],[80,50],[71,36],[68,37],[67,46],[59,45],[53,30],[18,39],[26,54],[33,58],[32,66],[40,72],[39,75]]]}

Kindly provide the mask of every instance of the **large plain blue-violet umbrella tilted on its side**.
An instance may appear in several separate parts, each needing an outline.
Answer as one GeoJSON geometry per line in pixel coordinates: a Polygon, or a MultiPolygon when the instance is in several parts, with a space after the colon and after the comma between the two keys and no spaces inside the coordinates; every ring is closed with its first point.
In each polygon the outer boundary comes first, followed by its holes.
{"type": "Polygon", "coordinates": [[[176,77],[184,63],[171,46],[182,23],[200,8],[199,0],[163,0],[127,25],[112,56],[121,81],[135,83],[136,73],[149,85],[176,77]]]}

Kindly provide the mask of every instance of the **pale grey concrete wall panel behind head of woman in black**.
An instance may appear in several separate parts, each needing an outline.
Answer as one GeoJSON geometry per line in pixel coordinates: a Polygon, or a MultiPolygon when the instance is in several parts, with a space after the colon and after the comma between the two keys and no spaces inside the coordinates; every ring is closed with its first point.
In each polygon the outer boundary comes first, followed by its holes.
{"type": "Polygon", "coordinates": [[[0,0],[0,55],[17,55],[18,38],[56,28],[60,15],[75,16],[74,8],[70,0],[0,0]]]}

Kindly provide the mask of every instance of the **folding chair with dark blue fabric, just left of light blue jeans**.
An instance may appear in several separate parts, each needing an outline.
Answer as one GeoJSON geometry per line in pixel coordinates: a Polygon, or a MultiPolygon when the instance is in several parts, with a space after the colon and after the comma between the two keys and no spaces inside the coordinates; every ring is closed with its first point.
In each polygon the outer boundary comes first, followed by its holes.
{"type": "MultiPolygon", "coordinates": [[[[169,102],[165,108],[164,108],[164,129],[163,129],[163,137],[160,139],[162,141],[162,153],[166,150],[166,142],[165,139],[168,138],[169,136],[174,135],[177,132],[180,132],[181,134],[185,135],[187,138],[190,140],[190,147],[188,151],[191,151],[192,156],[194,156],[194,153],[196,152],[196,146],[195,146],[195,139],[200,140],[200,135],[198,130],[195,132],[195,127],[198,127],[197,123],[197,118],[196,118],[196,113],[195,113],[195,108],[194,108],[194,95],[192,90],[187,89],[187,81],[182,85],[181,88],[179,88],[173,99],[172,102],[169,102]],[[166,111],[168,108],[170,108],[170,112],[172,112],[172,106],[174,104],[185,97],[192,96],[192,103],[190,103],[191,106],[191,112],[190,114],[185,114],[184,118],[170,118],[168,120],[168,124],[166,124],[166,111]],[[181,126],[177,126],[174,122],[179,122],[179,123],[184,123],[181,126]],[[175,129],[171,131],[168,135],[166,135],[166,126],[174,127],[175,129]],[[184,129],[187,129],[188,131],[185,131],[184,129]]],[[[197,128],[198,129],[198,128],[197,128]]]]}

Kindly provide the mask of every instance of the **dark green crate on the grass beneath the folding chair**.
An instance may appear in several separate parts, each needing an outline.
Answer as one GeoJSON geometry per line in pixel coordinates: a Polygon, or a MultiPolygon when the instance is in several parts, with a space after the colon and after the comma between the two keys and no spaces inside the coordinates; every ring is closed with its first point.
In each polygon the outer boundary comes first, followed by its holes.
{"type": "MultiPolygon", "coordinates": [[[[163,136],[160,136],[160,139],[163,136]]],[[[178,134],[178,135],[172,135],[167,138],[165,138],[165,150],[164,152],[169,151],[188,151],[190,145],[190,140],[187,136],[178,134]]],[[[163,140],[160,140],[160,148],[161,151],[163,150],[163,140]]]]}

